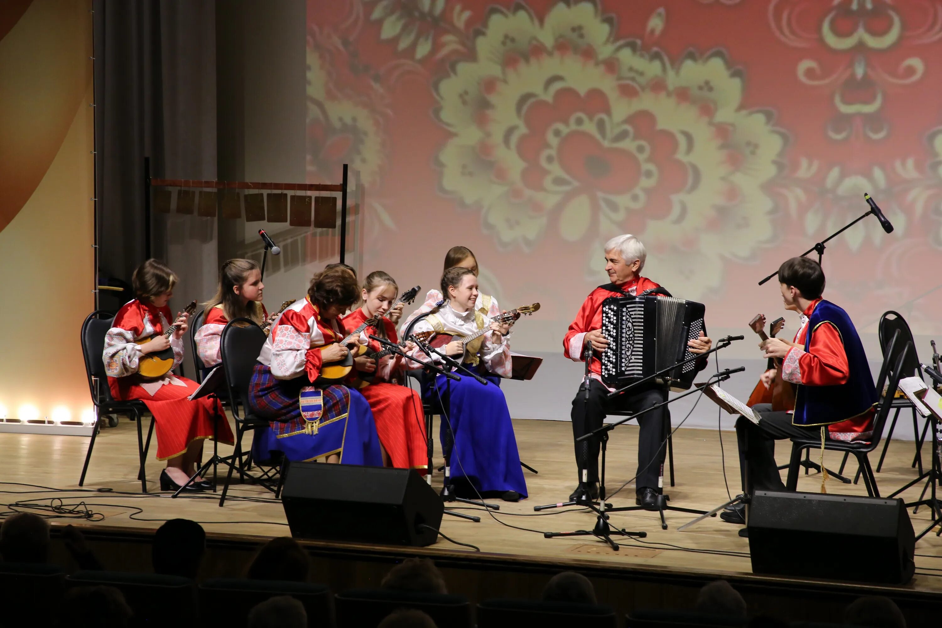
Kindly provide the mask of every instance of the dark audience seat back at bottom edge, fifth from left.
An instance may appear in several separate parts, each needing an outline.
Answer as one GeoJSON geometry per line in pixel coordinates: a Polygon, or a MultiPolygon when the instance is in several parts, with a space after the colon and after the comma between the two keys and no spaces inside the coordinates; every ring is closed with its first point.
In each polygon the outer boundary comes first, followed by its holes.
{"type": "Polygon", "coordinates": [[[601,604],[543,602],[539,600],[487,600],[478,604],[478,625],[482,628],[615,628],[615,609],[601,604]]]}

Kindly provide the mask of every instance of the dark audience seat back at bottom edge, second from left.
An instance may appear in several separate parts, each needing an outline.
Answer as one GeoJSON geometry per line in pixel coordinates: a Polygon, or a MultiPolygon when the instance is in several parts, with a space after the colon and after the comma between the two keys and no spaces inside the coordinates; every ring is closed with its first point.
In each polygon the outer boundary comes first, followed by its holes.
{"type": "Polygon", "coordinates": [[[135,626],[196,624],[196,588],[189,578],[157,573],[79,571],[66,578],[66,585],[69,588],[104,585],[119,589],[134,611],[132,625],[135,626]]]}

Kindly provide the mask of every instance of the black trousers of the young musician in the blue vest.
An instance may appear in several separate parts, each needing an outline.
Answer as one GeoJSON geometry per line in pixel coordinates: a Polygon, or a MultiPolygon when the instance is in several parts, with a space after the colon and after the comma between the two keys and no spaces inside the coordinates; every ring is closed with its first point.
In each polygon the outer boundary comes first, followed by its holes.
{"type": "Polygon", "coordinates": [[[775,441],[802,438],[820,434],[820,427],[791,425],[791,414],[771,411],[771,404],[755,404],[753,411],[759,415],[756,425],[744,416],[736,421],[736,438],[739,441],[739,473],[742,475],[742,490],[785,491],[785,483],[775,462],[775,441]]]}

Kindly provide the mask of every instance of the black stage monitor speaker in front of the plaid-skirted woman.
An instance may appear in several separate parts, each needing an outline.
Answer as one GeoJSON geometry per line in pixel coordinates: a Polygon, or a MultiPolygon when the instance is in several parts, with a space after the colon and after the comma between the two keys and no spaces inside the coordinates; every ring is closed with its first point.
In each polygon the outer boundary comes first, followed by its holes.
{"type": "Polygon", "coordinates": [[[387,545],[431,545],[445,510],[413,469],[316,462],[287,465],[282,503],[292,537],[387,545]]]}

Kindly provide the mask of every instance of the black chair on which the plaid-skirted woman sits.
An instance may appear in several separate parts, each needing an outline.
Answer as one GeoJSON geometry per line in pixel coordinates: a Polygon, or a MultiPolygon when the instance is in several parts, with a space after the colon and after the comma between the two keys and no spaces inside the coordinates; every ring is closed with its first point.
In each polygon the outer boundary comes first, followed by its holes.
{"type": "MultiPolygon", "coordinates": [[[[222,357],[222,369],[226,376],[226,388],[229,392],[229,408],[235,419],[235,452],[230,459],[221,459],[228,467],[226,482],[219,496],[219,506],[226,501],[229,483],[232,481],[233,471],[238,466],[239,479],[244,482],[249,477],[254,482],[275,493],[275,498],[281,496],[282,478],[279,476],[277,484],[271,477],[271,472],[264,475],[251,475],[246,470],[243,457],[249,452],[242,452],[242,437],[247,431],[254,431],[259,427],[268,427],[268,421],[252,414],[249,410],[249,387],[252,383],[252,372],[258,363],[258,354],[268,336],[254,321],[249,318],[236,318],[222,330],[219,350],[222,357]],[[241,403],[241,411],[239,404],[241,403]],[[243,415],[244,414],[244,415],[243,415]]],[[[256,460],[256,463],[260,462],[256,460]]],[[[261,466],[261,465],[260,465],[261,466]]],[[[275,465],[272,465],[275,466],[275,465]]]]}

